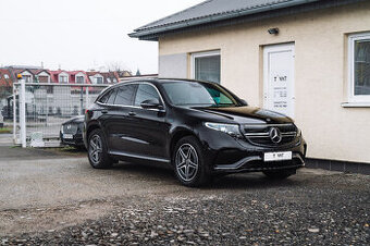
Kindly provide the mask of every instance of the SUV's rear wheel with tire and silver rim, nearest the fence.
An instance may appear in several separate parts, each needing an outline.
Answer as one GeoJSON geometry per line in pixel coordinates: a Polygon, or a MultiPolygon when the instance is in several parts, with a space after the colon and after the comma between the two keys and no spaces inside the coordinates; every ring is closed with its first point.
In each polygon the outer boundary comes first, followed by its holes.
{"type": "Polygon", "coordinates": [[[87,156],[95,169],[108,169],[113,164],[108,153],[104,135],[99,128],[94,130],[88,136],[87,156]]]}

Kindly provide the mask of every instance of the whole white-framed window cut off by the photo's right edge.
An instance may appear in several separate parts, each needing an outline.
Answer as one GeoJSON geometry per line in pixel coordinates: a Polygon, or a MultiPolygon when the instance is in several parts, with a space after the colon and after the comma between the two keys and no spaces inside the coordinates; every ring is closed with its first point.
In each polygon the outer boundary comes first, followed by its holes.
{"type": "Polygon", "coordinates": [[[348,36],[348,100],[370,102],[370,33],[348,36]]]}

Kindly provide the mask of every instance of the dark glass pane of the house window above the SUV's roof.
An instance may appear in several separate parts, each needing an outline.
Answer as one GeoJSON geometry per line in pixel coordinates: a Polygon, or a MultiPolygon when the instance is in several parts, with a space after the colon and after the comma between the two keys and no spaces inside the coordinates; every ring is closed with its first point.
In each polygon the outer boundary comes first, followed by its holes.
{"type": "Polygon", "coordinates": [[[220,83],[220,56],[195,58],[195,79],[220,83]]]}

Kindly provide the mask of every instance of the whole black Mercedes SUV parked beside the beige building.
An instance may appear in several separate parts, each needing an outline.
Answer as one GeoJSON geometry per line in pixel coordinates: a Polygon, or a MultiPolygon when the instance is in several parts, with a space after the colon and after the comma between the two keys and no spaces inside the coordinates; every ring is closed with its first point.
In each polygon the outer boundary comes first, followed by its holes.
{"type": "Polygon", "coordinates": [[[307,149],[292,119],[219,84],[169,78],[107,88],[86,111],[84,140],[94,168],[160,162],[187,186],[236,172],[285,179],[305,165],[307,149]]]}

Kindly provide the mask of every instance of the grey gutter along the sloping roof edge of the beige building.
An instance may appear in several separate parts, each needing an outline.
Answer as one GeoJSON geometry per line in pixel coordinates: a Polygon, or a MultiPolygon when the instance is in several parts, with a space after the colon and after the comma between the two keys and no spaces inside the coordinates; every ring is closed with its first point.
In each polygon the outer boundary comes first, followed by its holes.
{"type": "Polygon", "coordinates": [[[208,16],[208,17],[199,19],[199,20],[189,20],[189,21],[185,21],[185,22],[181,22],[181,23],[169,24],[169,26],[152,27],[152,28],[143,29],[143,30],[140,30],[138,28],[138,29],[134,30],[135,33],[128,34],[128,36],[132,37],[132,38],[140,38],[140,37],[144,37],[144,36],[155,35],[155,34],[159,34],[159,33],[165,33],[165,32],[170,32],[170,30],[174,30],[174,29],[186,28],[186,27],[189,27],[189,26],[201,25],[201,24],[206,24],[206,23],[210,23],[210,22],[224,21],[224,20],[227,20],[227,19],[234,19],[234,17],[244,16],[244,15],[250,15],[250,14],[256,14],[256,13],[261,13],[261,12],[267,12],[267,11],[272,11],[272,10],[278,10],[278,9],[284,9],[284,8],[289,8],[289,7],[294,7],[294,5],[300,5],[300,4],[306,4],[306,3],[310,3],[310,2],[317,2],[317,1],[319,1],[319,0],[299,0],[299,1],[287,0],[287,1],[282,2],[282,3],[270,4],[270,5],[260,7],[260,8],[256,8],[256,9],[247,9],[247,10],[244,10],[244,11],[232,12],[232,13],[229,13],[229,14],[221,14],[221,15],[217,15],[217,16],[208,16]]]}

